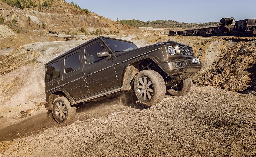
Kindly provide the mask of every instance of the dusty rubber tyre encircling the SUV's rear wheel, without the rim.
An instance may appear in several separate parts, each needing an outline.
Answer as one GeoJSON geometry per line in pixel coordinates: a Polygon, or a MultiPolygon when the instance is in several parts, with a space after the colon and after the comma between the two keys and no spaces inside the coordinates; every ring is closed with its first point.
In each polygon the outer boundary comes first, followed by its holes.
{"type": "MultiPolygon", "coordinates": [[[[57,108],[58,109],[58,108],[57,108]]],[[[63,109],[64,111],[64,109],[63,109]]],[[[58,111],[57,111],[58,112],[58,111]]],[[[64,112],[63,112],[64,113],[64,112]]],[[[76,107],[75,106],[71,106],[70,102],[68,101],[68,99],[64,96],[58,97],[54,100],[53,104],[52,104],[52,116],[54,117],[54,119],[58,122],[58,123],[64,123],[66,121],[70,121],[72,119],[74,119],[74,117],[76,116],[76,107]],[[63,103],[66,107],[66,116],[64,119],[60,119],[57,117],[56,112],[55,112],[55,106],[57,103],[63,103]]],[[[63,118],[63,116],[62,116],[63,118]]]]}

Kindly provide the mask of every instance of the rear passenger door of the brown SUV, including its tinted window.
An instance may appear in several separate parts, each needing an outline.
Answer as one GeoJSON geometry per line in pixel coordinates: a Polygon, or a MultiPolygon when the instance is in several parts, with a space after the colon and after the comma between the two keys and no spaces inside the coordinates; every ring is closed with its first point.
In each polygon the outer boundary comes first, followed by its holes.
{"type": "Polygon", "coordinates": [[[81,49],[63,57],[63,84],[74,99],[88,95],[81,58],[81,49]]]}

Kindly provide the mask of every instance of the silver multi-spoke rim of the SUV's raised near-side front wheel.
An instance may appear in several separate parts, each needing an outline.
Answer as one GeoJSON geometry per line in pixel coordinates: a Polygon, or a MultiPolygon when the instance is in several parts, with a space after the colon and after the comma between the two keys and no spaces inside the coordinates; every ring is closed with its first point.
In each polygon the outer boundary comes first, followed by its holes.
{"type": "Polygon", "coordinates": [[[145,76],[141,77],[137,82],[137,92],[143,100],[150,100],[154,93],[151,80],[145,76]]]}

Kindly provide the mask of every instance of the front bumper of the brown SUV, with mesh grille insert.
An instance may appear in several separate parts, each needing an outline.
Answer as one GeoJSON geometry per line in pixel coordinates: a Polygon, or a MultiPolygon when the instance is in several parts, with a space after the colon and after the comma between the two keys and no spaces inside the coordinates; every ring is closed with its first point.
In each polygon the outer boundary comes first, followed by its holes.
{"type": "Polygon", "coordinates": [[[176,59],[157,63],[167,75],[179,75],[183,73],[196,73],[202,65],[192,63],[192,59],[176,59]]]}

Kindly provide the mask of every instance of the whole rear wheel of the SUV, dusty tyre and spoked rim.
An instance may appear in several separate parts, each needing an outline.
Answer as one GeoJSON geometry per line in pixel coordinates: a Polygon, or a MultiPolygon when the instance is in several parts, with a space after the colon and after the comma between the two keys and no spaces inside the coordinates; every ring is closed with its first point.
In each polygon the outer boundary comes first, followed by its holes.
{"type": "Polygon", "coordinates": [[[68,99],[64,96],[58,97],[52,104],[52,116],[58,123],[74,119],[76,115],[76,107],[71,106],[68,99]]]}

